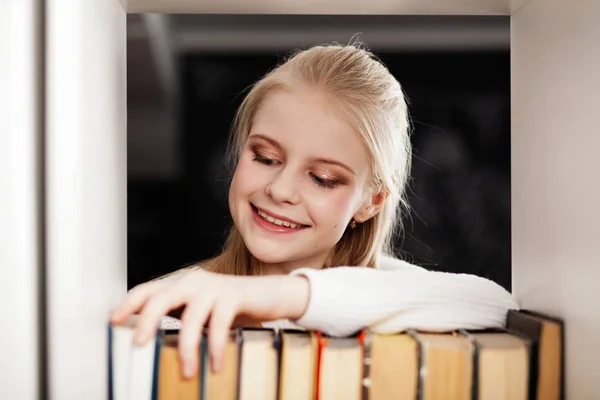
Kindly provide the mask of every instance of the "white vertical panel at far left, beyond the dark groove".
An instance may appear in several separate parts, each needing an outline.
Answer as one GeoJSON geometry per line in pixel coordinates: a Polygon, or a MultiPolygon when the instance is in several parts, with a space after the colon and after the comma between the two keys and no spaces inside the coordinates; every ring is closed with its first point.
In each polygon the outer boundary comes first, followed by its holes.
{"type": "Polygon", "coordinates": [[[2,398],[40,389],[39,12],[34,1],[0,2],[2,398]]]}

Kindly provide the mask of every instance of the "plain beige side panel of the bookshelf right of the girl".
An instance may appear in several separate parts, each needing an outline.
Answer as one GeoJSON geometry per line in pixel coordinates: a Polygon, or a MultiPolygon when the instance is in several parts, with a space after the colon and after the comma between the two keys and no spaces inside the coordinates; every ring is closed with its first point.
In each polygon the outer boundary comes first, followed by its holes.
{"type": "Polygon", "coordinates": [[[597,1],[534,0],[511,17],[512,287],[564,318],[573,399],[600,396],[598,15],[597,1]]]}

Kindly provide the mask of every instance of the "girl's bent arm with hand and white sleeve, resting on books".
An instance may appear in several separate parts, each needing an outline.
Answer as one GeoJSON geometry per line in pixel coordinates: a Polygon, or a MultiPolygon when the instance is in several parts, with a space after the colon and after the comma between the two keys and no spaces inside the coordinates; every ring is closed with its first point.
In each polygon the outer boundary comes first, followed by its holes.
{"type": "Polygon", "coordinates": [[[380,333],[498,327],[517,304],[492,281],[419,268],[303,268],[289,276],[261,277],[192,269],[136,286],[113,311],[111,321],[122,323],[138,313],[135,342],[143,345],[155,334],[161,317],[179,307],[185,307],[179,353],[185,374],[192,376],[198,367],[200,333],[208,320],[211,365],[218,369],[229,329],[240,316],[256,321],[287,318],[340,336],[364,327],[380,333]]]}

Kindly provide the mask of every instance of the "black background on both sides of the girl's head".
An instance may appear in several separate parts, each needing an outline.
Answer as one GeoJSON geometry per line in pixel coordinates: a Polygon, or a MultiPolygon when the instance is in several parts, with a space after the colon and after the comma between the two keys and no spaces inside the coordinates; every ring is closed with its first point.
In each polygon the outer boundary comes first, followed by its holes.
{"type": "MultiPolygon", "coordinates": [[[[374,51],[403,85],[414,125],[411,214],[397,249],[428,269],[510,289],[508,49],[374,51]]],[[[129,178],[129,287],[220,251],[230,224],[223,155],[231,119],[244,90],[285,54],[178,56],[180,173],[129,178]]],[[[131,142],[129,153],[136,162],[131,142]]]]}

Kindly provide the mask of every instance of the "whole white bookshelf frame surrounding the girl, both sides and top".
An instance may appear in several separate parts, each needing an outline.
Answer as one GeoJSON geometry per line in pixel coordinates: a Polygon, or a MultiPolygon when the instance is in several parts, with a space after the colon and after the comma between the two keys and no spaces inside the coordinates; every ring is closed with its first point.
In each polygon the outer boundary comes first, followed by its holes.
{"type": "Polygon", "coordinates": [[[9,0],[0,397],[107,397],[104,321],[126,290],[126,14],[148,12],[511,15],[513,291],[564,319],[567,398],[600,396],[600,2],[9,0]]]}

